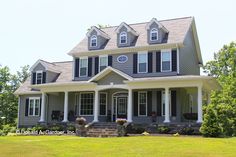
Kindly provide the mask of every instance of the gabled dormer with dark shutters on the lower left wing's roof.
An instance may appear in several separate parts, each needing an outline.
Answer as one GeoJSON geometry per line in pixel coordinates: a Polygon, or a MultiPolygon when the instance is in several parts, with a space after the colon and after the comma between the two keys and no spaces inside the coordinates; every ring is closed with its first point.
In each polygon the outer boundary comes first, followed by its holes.
{"type": "Polygon", "coordinates": [[[30,71],[32,85],[54,82],[61,73],[53,63],[43,60],[38,60],[30,71]]]}

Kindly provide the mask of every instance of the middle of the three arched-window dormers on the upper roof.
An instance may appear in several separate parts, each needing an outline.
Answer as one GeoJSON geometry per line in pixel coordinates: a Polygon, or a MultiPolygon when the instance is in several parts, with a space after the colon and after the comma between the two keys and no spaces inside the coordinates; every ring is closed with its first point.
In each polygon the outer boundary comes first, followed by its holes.
{"type": "Polygon", "coordinates": [[[117,47],[134,46],[138,37],[138,33],[125,22],[122,22],[116,28],[117,47]]]}

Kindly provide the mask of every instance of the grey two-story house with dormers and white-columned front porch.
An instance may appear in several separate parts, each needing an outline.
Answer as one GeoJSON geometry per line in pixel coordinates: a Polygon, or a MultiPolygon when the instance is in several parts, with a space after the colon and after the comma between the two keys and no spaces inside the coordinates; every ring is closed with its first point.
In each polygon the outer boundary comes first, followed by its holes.
{"type": "Polygon", "coordinates": [[[203,99],[219,85],[200,75],[193,17],[95,26],[69,53],[73,61],[38,60],[19,95],[19,126],[74,121],[202,122],[203,99]]]}

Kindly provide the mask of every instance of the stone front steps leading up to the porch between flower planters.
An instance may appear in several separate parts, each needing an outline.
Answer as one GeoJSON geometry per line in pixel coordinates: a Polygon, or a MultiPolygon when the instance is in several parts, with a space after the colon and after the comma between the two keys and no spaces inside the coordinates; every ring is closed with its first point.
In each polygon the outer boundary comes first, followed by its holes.
{"type": "Polygon", "coordinates": [[[115,137],[117,135],[116,123],[94,123],[87,132],[89,137],[115,137]]]}

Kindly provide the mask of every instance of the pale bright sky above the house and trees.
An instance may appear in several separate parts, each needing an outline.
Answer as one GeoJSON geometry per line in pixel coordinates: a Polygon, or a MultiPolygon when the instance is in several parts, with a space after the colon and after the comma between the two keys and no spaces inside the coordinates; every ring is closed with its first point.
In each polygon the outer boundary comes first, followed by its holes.
{"type": "Polygon", "coordinates": [[[204,63],[236,40],[235,0],[0,0],[0,64],[12,72],[67,53],[92,25],[194,16],[204,63]]]}

